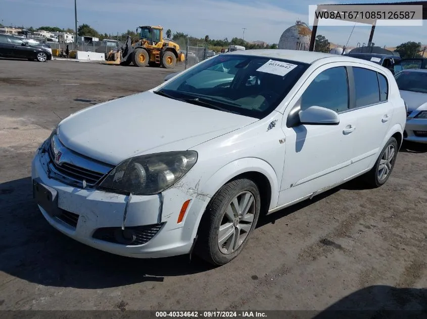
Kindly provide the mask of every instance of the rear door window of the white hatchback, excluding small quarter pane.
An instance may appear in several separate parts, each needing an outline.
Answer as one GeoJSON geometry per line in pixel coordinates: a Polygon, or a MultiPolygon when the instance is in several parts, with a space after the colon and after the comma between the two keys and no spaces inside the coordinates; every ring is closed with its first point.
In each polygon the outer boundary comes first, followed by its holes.
{"type": "Polygon", "coordinates": [[[356,107],[379,102],[379,87],[376,72],[363,68],[353,68],[356,87],[356,107]]]}

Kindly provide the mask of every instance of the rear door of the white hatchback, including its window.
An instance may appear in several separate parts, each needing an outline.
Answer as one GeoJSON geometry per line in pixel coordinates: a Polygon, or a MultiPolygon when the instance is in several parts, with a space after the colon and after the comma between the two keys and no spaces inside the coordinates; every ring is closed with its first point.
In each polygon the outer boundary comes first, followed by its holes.
{"type": "Polygon", "coordinates": [[[360,171],[370,167],[383,147],[394,107],[388,100],[389,83],[379,69],[352,67],[354,99],[349,112],[357,125],[357,141],[353,145],[353,162],[360,171]]]}

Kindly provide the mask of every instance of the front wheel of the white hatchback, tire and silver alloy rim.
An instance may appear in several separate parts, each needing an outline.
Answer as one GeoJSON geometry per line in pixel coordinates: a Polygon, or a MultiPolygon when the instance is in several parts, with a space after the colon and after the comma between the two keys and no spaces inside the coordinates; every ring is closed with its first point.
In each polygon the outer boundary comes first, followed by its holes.
{"type": "Polygon", "coordinates": [[[223,185],[202,216],[194,252],[215,266],[224,265],[236,258],[255,229],[260,204],[259,189],[252,180],[235,179],[223,185]],[[246,212],[243,207],[233,210],[235,200],[239,206],[250,203],[246,212]],[[223,228],[224,225],[228,226],[225,226],[224,235],[221,236],[220,226],[223,228]],[[237,234],[239,237],[236,237],[237,234]],[[222,237],[222,240],[219,237],[222,237]]]}

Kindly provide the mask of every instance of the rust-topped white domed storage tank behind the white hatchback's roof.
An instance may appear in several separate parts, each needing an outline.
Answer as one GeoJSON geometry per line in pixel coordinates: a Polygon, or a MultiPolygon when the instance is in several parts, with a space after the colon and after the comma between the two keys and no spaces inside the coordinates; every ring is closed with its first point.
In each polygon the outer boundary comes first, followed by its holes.
{"type": "Polygon", "coordinates": [[[278,48],[288,50],[303,50],[308,51],[311,38],[311,29],[301,21],[282,33],[278,48]]]}

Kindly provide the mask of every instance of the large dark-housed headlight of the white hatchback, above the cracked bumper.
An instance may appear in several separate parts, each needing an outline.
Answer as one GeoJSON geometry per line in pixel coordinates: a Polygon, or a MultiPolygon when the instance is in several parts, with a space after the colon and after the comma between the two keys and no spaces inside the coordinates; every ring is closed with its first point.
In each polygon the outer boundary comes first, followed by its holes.
{"type": "Polygon", "coordinates": [[[163,192],[176,183],[197,161],[197,152],[165,152],[129,158],[117,165],[100,188],[138,195],[163,192]]]}

